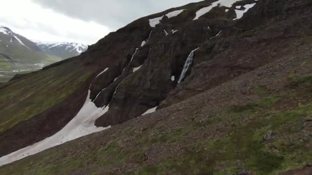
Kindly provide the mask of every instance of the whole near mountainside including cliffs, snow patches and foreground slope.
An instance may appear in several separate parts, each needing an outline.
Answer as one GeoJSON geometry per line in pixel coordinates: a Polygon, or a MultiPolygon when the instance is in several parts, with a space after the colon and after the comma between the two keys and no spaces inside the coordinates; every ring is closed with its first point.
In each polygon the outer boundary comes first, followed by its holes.
{"type": "Polygon", "coordinates": [[[0,173],[309,174],[311,11],[191,3],[3,84],[0,173]]]}

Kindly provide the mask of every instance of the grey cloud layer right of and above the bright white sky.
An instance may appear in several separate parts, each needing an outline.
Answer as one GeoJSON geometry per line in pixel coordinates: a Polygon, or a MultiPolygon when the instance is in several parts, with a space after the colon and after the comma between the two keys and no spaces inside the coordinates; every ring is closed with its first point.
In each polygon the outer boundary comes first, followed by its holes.
{"type": "Polygon", "coordinates": [[[44,8],[85,21],[95,21],[110,30],[119,29],[131,21],[196,0],[33,0],[44,8]]]}

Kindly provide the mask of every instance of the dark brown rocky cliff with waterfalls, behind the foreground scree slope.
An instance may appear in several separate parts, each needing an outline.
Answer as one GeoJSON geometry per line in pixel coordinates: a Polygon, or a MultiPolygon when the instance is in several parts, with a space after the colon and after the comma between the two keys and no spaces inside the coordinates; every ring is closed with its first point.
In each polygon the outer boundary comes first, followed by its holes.
{"type": "MultiPolygon", "coordinates": [[[[36,75],[79,68],[90,78],[62,102],[4,130],[0,139],[7,142],[1,154],[40,141],[64,127],[80,110],[89,85],[95,105],[109,106],[96,126],[113,126],[156,106],[159,110],[177,104],[275,61],[311,42],[312,26],[306,23],[311,19],[311,5],[312,1],[303,0],[208,0],[135,20],[80,56],[38,72],[36,75]],[[183,71],[185,76],[181,77],[183,71]],[[77,105],[69,105],[73,101],[77,105]],[[48,119],[52,115],[62,120],[55,124],[48,119]],[[34,123],[46,127],[25,127],[34,123]]],[[[72,81],[72,77],[67,80],[72,81]]],[[[15,82],[11,83],[5,87],[14,86],[15,82]]]]}

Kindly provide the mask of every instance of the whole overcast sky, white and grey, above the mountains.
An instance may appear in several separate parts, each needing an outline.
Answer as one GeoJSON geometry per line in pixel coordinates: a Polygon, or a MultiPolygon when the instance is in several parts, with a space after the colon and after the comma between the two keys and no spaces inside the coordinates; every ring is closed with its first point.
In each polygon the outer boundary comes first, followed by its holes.
{"type": "Polygon", "coordinates": [[[32,40],[92,44],[131,21],[197,0],[7,0],[0,25],[32,40]]]}

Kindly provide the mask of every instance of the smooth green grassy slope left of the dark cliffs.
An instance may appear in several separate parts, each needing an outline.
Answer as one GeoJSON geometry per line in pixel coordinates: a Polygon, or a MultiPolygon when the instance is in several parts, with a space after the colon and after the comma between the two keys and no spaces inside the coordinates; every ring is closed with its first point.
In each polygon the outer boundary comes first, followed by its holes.
{"type": "Polygon", "coordinates": [[[31,74],[1,89],[0,133],[61,102],[92,74],[81,63],[72,63],[31,74]]]}

